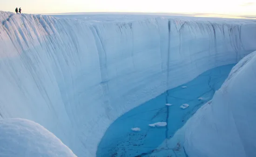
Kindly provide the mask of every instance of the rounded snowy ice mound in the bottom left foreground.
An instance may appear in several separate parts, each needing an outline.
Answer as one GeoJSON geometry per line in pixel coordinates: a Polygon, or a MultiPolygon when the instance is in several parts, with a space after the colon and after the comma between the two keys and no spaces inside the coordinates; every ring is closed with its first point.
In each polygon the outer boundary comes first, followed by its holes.
{"type": "Polygon", "coordinates": [[[27,119],[0,120],[0,157],[76,157],[52,132],[27,119]]]}

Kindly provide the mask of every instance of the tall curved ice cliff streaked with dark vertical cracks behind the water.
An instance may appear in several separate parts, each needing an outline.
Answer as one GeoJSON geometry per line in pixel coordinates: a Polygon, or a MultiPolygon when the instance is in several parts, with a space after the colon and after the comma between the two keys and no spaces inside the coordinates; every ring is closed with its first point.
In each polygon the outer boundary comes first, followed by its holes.
{"type": "Polygon", "coordinates": [[[0,13],[1,117],[34,120],[79,157],[122,113],[256,50],[254,22],[0,13]]]}

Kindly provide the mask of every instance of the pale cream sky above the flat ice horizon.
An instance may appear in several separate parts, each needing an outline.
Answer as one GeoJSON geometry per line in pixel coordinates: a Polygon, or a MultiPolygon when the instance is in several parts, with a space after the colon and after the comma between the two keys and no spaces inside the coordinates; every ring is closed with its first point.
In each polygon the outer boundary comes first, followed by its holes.
{"type": "Polygon", "coordinates": [[[0,0],[0,10],[23,13],[144,12],[256,15],[256,0],[0,0]]]}

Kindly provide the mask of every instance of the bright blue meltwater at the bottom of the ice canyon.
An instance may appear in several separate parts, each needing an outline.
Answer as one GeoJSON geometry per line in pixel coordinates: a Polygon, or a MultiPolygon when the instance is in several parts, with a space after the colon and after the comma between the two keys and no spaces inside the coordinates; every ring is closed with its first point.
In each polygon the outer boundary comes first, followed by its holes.
{"type": "Polygon", "coordinates": [[[165,139],[172,138],[203,104],[212,99],[233,66],[210,69],[191,82],[170,89],[123,114],[105,132],[97,157],[166,157],[153,154],[159,151],[157,147],[165,139]],[[172,106],[166,106],[166,102],[172,106]],[[189,104],[189,107],[182,109],[182,104],[189,104]],[[167,126],[148,126],[156,122],[167,122],[167,126]],[[141,131],[132,131],[133,127],[140,127],[141,131]]]}

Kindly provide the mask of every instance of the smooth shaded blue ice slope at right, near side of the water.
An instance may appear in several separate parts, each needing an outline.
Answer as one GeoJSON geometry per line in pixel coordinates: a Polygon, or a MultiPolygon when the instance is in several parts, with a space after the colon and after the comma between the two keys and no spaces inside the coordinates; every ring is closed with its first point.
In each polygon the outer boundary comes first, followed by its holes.
{"type": "Polygon", "coordinates": [[[256,156],[256,51],[244,57],[210,104],[184,126],[189,157],[256,156]]]}

